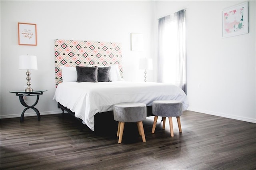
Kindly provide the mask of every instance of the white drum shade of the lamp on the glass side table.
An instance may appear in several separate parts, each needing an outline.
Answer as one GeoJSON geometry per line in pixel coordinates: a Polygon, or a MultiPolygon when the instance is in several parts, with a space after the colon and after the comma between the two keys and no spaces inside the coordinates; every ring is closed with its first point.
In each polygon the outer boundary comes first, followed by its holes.
{"type": "Polygon", "coordinates": [[[19,70],[37,70],[37,59],[35,55],[20,55],[19,70]]]}

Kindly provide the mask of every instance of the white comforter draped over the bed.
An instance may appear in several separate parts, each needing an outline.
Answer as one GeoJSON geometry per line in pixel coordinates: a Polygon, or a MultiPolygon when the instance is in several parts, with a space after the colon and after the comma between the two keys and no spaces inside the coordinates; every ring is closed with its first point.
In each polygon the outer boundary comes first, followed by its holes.
{"type": "Polygon", "coordinates": [[[183,110],[188,108],[186,94],[177,86],[167,83],[100,82],[60,83],[54,100],[67,107],[94,130],[94,115],[112,111],[113,105],[122,102],[140,102],[151,106],[154,100],[179,100],[183,110]]]}

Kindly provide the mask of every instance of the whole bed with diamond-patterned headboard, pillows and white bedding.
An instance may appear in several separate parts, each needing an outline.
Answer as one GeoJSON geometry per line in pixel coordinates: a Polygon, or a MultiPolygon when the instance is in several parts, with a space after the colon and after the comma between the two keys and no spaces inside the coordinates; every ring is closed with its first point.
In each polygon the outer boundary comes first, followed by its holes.
{"type": "Polygon", "coordinates": [[[120,43],[56,40],[54,45],[53,99],[93,131],[95,115],[111,113],[116,103],[145,103],[147,116],[154,100],[179,100],[188,108],[186,94],[175,85],[124,81],[120,43]]]}

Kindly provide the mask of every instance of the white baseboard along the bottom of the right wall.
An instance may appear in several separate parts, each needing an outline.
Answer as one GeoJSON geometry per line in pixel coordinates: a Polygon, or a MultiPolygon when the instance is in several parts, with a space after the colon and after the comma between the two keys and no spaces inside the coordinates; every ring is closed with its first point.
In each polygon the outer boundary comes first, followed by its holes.
{"type": "Polygon", "coordinates": [[[191,108],[191,107],[188,108],[188,111],[194,111],[194,112],[204,113],[204,114],[208,114],[208,115],[214,115],[214,116],[219,116],[219,117],[226,117],[226,118],[229,118],[229,119],[236,119],[236,120],[239,120],[239,121],[246,121],[246,122],[256,123],[256,119],[251,119],[251,118],[248,118],[248,117],[234,116],[234,115],[228,115],[228,114],[224,114],[224,113],[216,113],[216,112],[212,112],[212,111],[195,109],[195,108],[191,108]]]}

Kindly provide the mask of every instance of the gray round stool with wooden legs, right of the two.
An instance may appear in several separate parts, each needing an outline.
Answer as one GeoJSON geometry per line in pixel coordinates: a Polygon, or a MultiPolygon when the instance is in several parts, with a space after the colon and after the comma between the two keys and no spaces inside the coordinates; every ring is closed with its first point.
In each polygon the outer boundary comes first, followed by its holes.
{"type": "Polygon", "coordinates": [[[182,102],[181,101],[176,101],[176,100],[153,101],[152,112],[153,112],[153,115],[155,115],[152,133],[155,132],[156,121],[157,121],[158,116],[162,117],[163,129],[165,128],[165,118],[166,117],[169,118],[170,131],[171,131],[172,137],[174,136],[173,126],[172,126],[172,117],[177,118],[179,131],[182,132],[181,125],[180,125],[180,116],[182,115],[182,102]]]}

